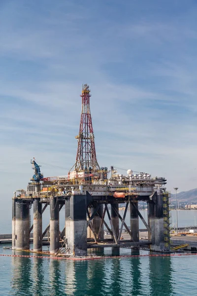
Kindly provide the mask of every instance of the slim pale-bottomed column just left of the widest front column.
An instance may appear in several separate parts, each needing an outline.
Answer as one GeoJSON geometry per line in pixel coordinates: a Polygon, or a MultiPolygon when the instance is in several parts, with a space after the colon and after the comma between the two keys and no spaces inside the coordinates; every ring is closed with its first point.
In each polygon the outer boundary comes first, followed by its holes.
{"type": "Polygon", "coordinates": [[[55,254],[60,245],[59,203],[57,197],[50,197],[50,253],[55,254]]]}

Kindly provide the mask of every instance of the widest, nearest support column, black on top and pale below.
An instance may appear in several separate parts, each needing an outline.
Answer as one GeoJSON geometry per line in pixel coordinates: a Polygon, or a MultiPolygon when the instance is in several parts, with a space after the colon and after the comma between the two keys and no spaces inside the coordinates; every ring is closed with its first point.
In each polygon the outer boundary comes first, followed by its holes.
{"type": "Polygon", "coordinates": [[[87,256],[86,195],[72,195],[67,216],[67,248],[74,256],[87,256]]]}

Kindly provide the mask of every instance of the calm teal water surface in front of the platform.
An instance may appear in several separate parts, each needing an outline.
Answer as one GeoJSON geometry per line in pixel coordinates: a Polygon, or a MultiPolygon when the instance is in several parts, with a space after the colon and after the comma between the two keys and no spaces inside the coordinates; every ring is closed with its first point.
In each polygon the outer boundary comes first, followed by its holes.
{"type": "MultiPolygon", "coordinates": [[[[1,254],[13,252],[0,247],[1,254]]],[[[121,252],[131,254],[131,250],[121,252]]],[[[196,266],[195,255],[81,262],[0,257],[0,295],[193,296],[197,295],[196,266]]]]}

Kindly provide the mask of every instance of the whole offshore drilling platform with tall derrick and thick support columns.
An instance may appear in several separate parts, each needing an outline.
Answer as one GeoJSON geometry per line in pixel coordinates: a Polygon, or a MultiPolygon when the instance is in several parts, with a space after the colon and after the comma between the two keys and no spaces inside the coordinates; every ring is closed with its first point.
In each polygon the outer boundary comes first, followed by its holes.
{"type": "Polygon", "coordinates": [[[44,178],[35,159],[34,175],[27,190],[17,190],[12,197],[12,249],[29,250],[33,231],[33,251],[42,251],[42,240],[49,233],[50,254],[87,256],[91,248],[140,248],[170,252],[170,195],[163,177],[146,173],[118,174],[111,166],[100,167],[95,149],[90,112],[90,89],[82,89],[82,111],[76,161],[66,176],[44,178]],[[148,205],[148,222],[138,210],[138,202],[148,205]],[[119,204],[125,204],[123,216],[119,204]],[[33,205],[33,225],[30,209],[33,205]],[[50,207],[50,223],[42,231],[42,214],[50,207]],[[65,206],[65,227],[60,230],[59,212],[65,206]],[[130,209],[130,225],[126,214],[130,209]],[[107,221],[106,221],[107,217],[107,221]],[[139,240],[139,218],[148,231],[148,241],[139,240]],[[108,223],[107,223],[108,222],[108,223]],[[104,239],[104,227],[110,239],[104,239]],[[130,235],[121,240],[122,231],[130,235]]]}

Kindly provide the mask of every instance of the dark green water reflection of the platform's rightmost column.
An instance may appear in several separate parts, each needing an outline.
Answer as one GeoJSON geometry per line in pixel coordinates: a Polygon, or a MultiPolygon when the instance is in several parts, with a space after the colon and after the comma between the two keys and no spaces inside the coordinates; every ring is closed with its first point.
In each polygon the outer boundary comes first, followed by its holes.
{"type": "Polygon", "coordinates": [[[173,295],[171,258],[150,257],[149,266],[151,295],[173,295]]]}

